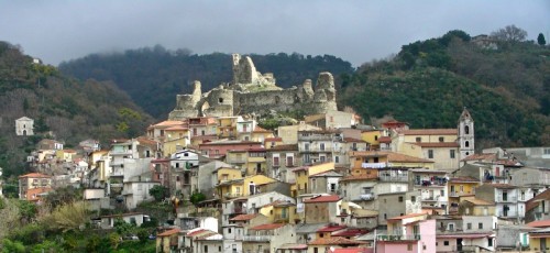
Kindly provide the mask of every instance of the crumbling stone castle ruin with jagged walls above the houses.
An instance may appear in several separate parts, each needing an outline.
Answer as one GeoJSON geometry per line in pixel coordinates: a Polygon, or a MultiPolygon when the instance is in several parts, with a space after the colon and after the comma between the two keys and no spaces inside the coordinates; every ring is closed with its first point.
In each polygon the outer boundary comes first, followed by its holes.
{"type": "Polygon", "coordinates": [[[257,72],[250,56],[233,54],[233,80],[207,92],[196,80],[193,94],[177,95],[176,108],[168,119],[265,114],[271,110],[324,113],[337,110],[336,95],[334,78],[328,72],[319,74],[315,87],[307,79],[299,87],[283,89],[275,84],[273,74],[257,72]]]}

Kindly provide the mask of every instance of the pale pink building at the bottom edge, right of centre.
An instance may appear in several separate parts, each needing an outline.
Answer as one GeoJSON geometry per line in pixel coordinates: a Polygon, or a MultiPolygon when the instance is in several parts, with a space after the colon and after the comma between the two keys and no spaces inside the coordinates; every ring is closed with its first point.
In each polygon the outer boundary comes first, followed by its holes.
{"type": "Polygon", "coordinates": [[[436,253],[436,220],[426,213],[387,219],[387,235],[376,237],[376,253],[436,253]]]}

